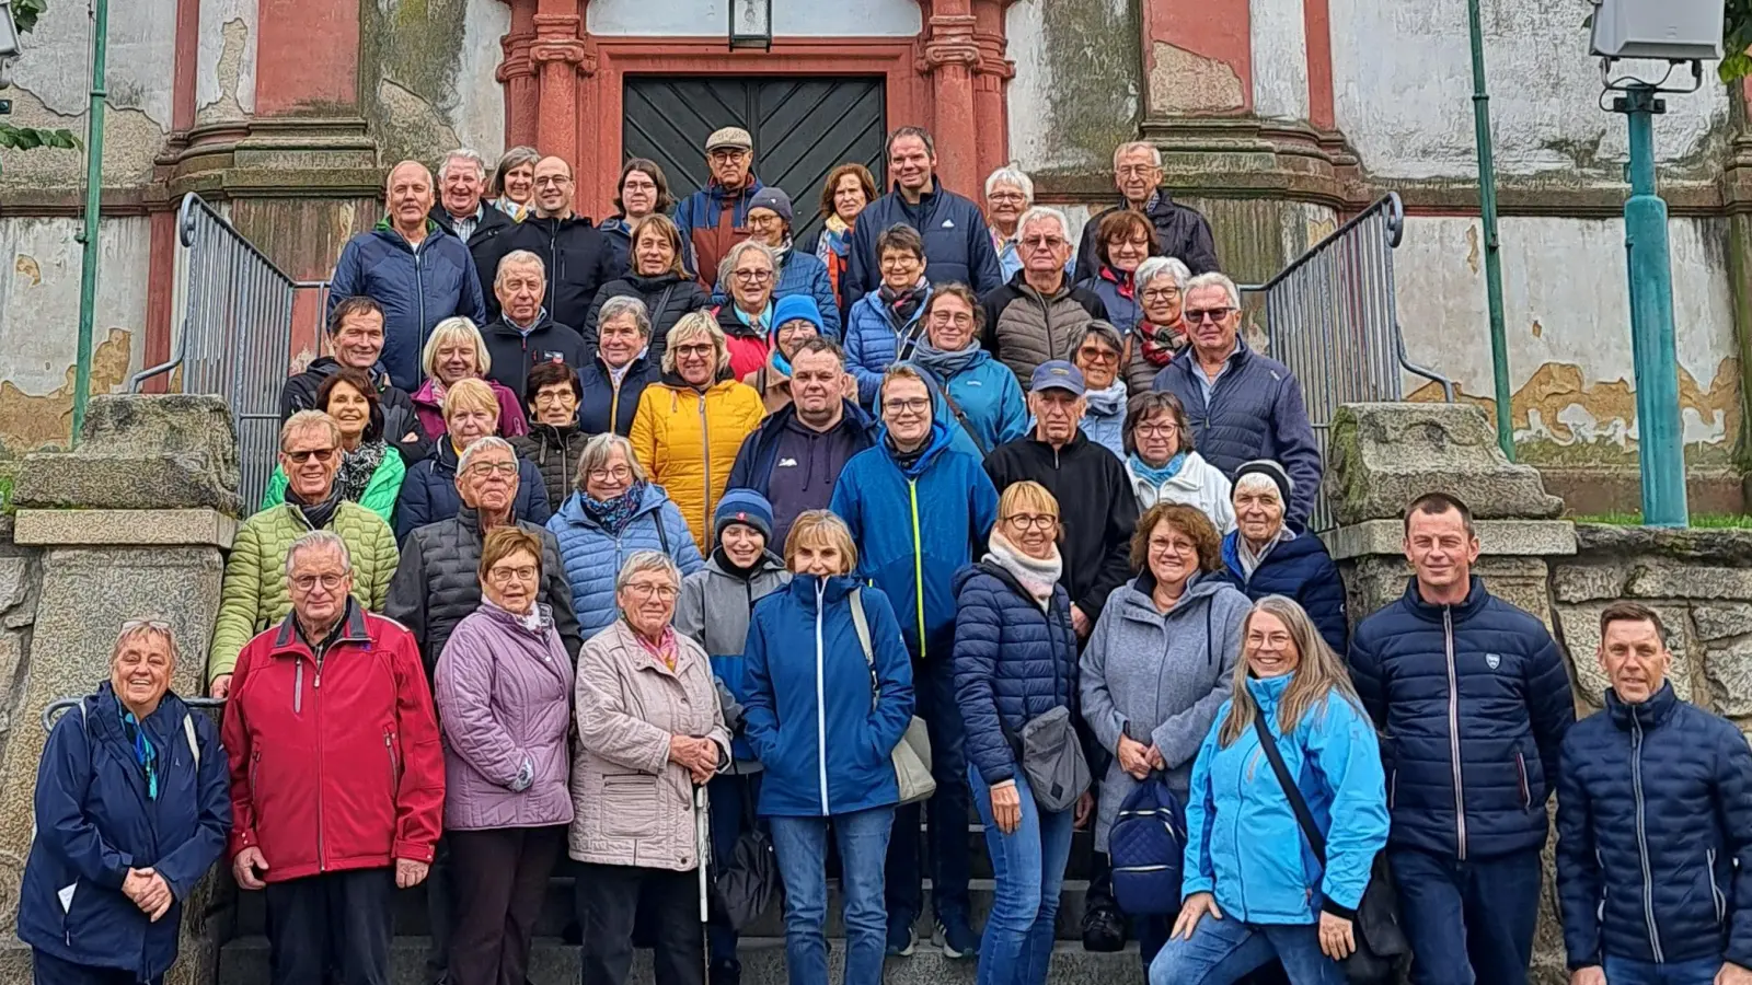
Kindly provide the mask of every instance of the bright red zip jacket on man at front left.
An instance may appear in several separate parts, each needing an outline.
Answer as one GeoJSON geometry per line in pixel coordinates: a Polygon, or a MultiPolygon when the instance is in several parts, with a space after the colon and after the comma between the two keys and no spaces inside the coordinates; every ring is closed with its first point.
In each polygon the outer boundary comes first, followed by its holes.
{"type": "Polygon", "coordinates": [[[319,664],[294,619],[251,640],[231,677],[231,857],[261,848],[266,882],[431,862],[443,752],[413,634],[349,601],[319,664]]]}

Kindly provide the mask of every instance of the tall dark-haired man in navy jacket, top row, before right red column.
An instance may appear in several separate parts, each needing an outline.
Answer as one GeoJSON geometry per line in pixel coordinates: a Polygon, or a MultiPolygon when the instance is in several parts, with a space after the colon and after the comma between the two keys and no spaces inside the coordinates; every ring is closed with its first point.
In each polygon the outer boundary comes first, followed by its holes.
{"type": "Polygon", "coordinates": [[[918,230],[925,240],[925,275],[932,284],[967,284],[979,294],[1004,284],[979,207],[943,188],[937,179],[937,147],[929,131],[902,126],[888,135],[888,175],[894,179],[894,191],[871,202],[851,228],[848,268],[841,284],[846,310],[881,286],[876,237],[888,226],[918,230]]]}

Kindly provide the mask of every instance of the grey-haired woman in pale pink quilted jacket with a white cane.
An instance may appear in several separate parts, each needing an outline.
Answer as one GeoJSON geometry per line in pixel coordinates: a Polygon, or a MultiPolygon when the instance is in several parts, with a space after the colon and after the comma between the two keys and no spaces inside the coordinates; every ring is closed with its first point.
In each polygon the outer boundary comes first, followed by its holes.
{"type": "Polygon", "coordinates": [[[571,857],[582,862],[583,980],[596,985],[625,985],[641,908],[657,985],[704,985],[694,789],[729,761],[731,733],[706,650],[671,626],[680,591],[669,557],[627,557],[615,577],[620,619],[578,654],[571,857]]]}

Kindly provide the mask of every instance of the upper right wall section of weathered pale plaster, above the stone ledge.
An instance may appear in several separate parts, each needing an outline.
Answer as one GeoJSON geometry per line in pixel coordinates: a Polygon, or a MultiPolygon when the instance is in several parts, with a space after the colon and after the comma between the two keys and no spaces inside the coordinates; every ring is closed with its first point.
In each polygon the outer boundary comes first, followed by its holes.
{"type": "MultiPolygon", "coordinates": [[[[1368,172],[1473,181],[1466,0],[1330,0],[1330,9],[1339,128],[1368,172]]],[[[1582,26],[1591,12],[1591,0],[1484,0],[1498,172],[1622,181],[1626,126],[1596,102],[1600,63],[1582,26]]],[[[1670,96],[1656,124],[1659,158],[1698,154],[1726,114],[1724,86],[1670,96]]]]}

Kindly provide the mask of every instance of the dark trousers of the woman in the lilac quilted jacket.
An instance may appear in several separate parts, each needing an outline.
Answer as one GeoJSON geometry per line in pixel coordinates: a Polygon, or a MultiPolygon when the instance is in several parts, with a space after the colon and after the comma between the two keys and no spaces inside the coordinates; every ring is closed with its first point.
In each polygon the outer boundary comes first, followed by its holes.
{"type": "Polygon", "coordinates": [[[529,939],[566,827],[452,831],[450,985],[524,985],[529,939]]]}

